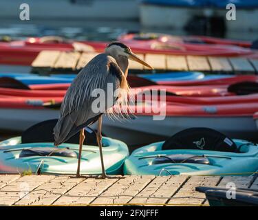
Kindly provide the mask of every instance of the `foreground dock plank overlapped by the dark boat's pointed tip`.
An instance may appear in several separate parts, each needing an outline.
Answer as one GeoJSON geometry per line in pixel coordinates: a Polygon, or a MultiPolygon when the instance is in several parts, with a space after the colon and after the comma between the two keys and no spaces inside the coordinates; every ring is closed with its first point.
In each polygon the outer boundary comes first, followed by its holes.
{"type": "Polygon", "coordinates": [[[197,192],[197,186],[217,186],[221,178],[217,176],[192,176],[186,184],[169,200],[169,204],[184,205],[202,205],[206,200],[205,194],[197,192]]]}

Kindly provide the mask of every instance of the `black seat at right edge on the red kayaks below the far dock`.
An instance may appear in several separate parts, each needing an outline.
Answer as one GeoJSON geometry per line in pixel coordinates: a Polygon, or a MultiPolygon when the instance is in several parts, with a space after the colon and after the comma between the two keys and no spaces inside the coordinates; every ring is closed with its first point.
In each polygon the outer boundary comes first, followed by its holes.
{"type": "Polygon", "coordinates": [[[233,92],[239,96],[258,93],[258,83],[255,82],[241,82],[234,83],[228,87],[229,92],[233,92]]]}

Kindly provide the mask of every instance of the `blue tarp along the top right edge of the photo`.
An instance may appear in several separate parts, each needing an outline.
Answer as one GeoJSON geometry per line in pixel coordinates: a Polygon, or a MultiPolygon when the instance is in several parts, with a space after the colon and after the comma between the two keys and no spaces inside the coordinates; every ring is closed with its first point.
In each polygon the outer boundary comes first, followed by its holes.
{"type": "Polygon", "coordinates": [[[258,8],[258,0],[143,0],[142,2],[155,5],[213,8],[226,8],[228,3],[233,3],[237,8],[258,8]]]}

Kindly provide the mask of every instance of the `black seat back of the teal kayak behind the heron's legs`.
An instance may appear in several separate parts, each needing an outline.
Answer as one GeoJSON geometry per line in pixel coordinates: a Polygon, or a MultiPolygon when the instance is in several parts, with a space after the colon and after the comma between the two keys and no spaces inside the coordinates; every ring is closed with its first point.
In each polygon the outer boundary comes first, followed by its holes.
{"type": "MultiPolygon", "coordinates": [[[[34,124],[26,131],[23,131],[21,135],[21,143],[39,143],[39,142],[54,142],[53,129],[56,126],[57,119],[46,120],[38,124],[34,124]]],[[[86,145],[98,146],[96,132],[89,127],[85,127],[85,142],[86,145]]],[[[79,135],[76,133],[74,136],[70,137],[66,143],[69,144],[79,144],[79,135]]]]}

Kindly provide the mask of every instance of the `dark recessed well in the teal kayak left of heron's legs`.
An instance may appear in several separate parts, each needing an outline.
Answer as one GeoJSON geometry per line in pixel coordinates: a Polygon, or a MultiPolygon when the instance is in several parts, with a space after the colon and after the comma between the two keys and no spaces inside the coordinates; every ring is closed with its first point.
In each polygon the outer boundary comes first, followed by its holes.
{"type": "Polygon", "coordinates": [[[34,147],[30,149],[23,149],[19,157],[33,157],[33,156],[58,156],[58,157],[73,157],[77,158],[77,154],[67,148],[56,147],[34,147]]]}

